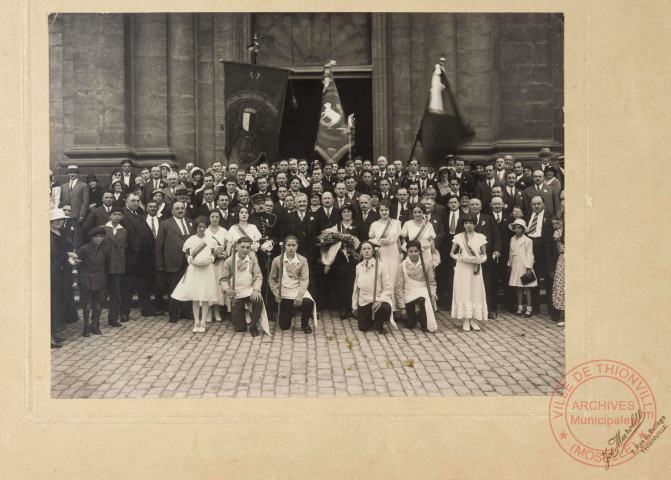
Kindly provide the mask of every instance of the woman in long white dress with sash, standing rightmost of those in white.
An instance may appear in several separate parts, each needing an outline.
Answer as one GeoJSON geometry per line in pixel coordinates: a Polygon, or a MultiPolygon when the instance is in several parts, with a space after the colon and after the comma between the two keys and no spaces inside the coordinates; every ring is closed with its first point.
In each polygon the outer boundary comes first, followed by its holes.
{"type": "Polygon", "coordinates": [[[482,279],[482,264],[487,260],[487,238],[475,231],[476,219],[461,215],[464,232],[454,236],[450,257],[457,261],[452,288],[452,318],[463,321],[463,330],[480,331],[477,320],[487,319],[487,296],[482,279]]]}

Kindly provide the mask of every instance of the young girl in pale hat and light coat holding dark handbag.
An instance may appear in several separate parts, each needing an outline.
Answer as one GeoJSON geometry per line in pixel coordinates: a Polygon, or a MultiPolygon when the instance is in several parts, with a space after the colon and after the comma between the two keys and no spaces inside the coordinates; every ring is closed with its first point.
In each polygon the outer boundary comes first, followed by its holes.
{"type": "Polygon", "coordinates": [[[510,267],[510,280],[508,284],[515,287],[517,294],[517,312],[518,317],[523,313],[522,297],[526,299],[526,313],[525,318],[531,317],[531,287],[538,286],[536,274],[534,273],[534,246],[529,237],[524,235],[528,229],[527,224],[521,218],[518,218],[513,223],[508,225],[508,228],[515,233],[515,236],[510,239],[510,257],[508,259],[508,266],[510,267]],[[533,273],[534,280],[526,285],[522,283],[521,277],[525,274],[533,273]]]}

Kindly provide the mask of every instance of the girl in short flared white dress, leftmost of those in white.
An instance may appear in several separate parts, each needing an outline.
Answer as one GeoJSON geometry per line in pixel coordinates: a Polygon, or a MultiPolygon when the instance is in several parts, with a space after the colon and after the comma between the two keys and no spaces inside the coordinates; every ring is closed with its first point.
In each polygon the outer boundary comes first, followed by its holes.
{"type": "Polygon", "coordinates": [[[196,234],[190,236],[182,247],[189,266],[171,296],[180,302],[193,302],[193,332],[203,333],[205,319],[210,313],[210,305],[218,300],[218,283],[212,265],[217,243],[211,237],[205,236],[208,226],[207,218],[198,217],[194,223],[196,234]]]}

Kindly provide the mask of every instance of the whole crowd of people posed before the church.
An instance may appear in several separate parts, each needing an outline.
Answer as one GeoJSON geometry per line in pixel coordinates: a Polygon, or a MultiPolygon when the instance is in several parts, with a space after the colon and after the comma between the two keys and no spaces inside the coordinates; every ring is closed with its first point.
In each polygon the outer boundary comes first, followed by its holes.
{"type": "Polygon", "coordinates": [[[403,321],[432,332],[438,305],[478,331],[500,291],[512,313],[537,313],[541,283],[563,325],[564,172],[552,156],[448,156],[437,170],[385,157],[164,163],[139,175],[124,160],[104,188],[69,165],[50,189],[52,347],[79,319],[75,280],[85,336],[102,333],[105,301],[108,325],[122,327],[135,294],[141,316],[167,310],[194,333],[230,317],[257,336],[269,320],[291,328],[295,311],[311,333],[322,309],[362,331],[403,321]]]}

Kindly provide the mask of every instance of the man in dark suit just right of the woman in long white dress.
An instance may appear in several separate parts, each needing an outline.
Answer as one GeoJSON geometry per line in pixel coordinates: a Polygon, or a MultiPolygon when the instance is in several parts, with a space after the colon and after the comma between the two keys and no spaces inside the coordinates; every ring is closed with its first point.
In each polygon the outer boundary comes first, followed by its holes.
{"type": "MultiPolygon", "coordinates": [[[[475,231],[481,233],[487,239],[486,253],[487,261],[482,265],[482,279],[485,283],[485,293],[487,294],[487,310],[489,310],[488,318],[494,318],[494,311],[496,310],[496,265],[497,260],[501,257],[501,235],[499,229],[494,222],[494,219],[489,215],[481,213],[482,202],[477,198],[472,198],[468,202],[468,208],[471,215],[474,215],[477,223],[475,224],[475,231]]],[[[457,229],[457,233],[464,231],[463,225],[457,229]]]]}

